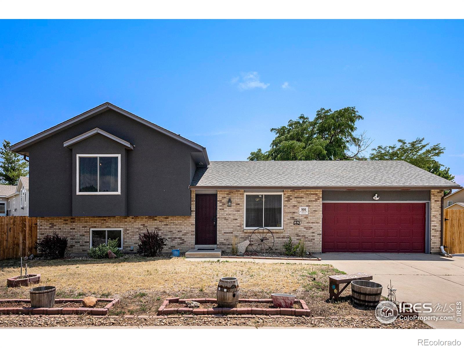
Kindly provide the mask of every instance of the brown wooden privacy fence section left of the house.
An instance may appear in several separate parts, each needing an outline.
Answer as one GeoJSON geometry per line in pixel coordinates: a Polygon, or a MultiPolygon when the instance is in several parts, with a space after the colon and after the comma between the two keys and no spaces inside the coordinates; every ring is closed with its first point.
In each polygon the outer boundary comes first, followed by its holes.
{"type": "Polygon", "coordinates": [[[0,216],[0,260],[36,254],[37,218],[0,216]]]}

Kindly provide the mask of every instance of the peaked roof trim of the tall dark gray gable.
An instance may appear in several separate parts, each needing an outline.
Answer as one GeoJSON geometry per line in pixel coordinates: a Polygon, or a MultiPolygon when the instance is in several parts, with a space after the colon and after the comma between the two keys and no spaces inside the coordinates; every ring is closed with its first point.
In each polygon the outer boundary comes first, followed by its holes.
{"type": "Polygon", "coordinates": [[[27,146],[29,145],[32,145],[36,142],[39,142],[40,140],[42,139],[45,139],[46,137],[50,136],[50,135],[53,135],[53,134],[56,134],[58,133],[59,131],[63,130],[63,129],[66,129],[66,128],[69,128],[71,127],[72,125],[78,123],[78,122],[82,122],[92,116],[96,116],[106,110],[115,110],[117,112],[119,112],[120,114],[124,115],[124,116],[127,116],[137,122],[140,122],[152,129],[155,129],[165,135],[168,135],[172,138],[174,138],[175,140],[178,140],[186,145],[189,145],[191,146],[192,148],[195,148],[197,150],[199,150],[200,152],[203,153],[204,155],[204,158],[205,158],[205,161],[206,161],[206,165],[209,165],[209,160],[208,160],[208,154],[206,153],[206,148],[204,148],[203,146],[201,146],[200,144],[197,144],[196,142],[192,142],[191,140],[188,140],[186,138],[184,138],[183,136],[180,136],[178,134],[175,134],[173,132],[171,132],[170,130],[168,129],[164,129],[158,125],[156,125],[155,123],[152,123],[150,121],[147,121],[145,119],[143,119],[142,117],[139,117],[137,115],[134,115],[132,114],[131,112],[127,111],[127,110],[124,110],[124,109],[121,109],[119,107],[117,107],[116,105],[114,104],[111,104],[109,102],[106,102],[106,103],[103,103],[101,105],[98,105],[97,107],[93,108],[93,109],[90,109],[88,111],[85,111],[84,113],[80,114],[80,115],[77,115],[77,116],[74,116],[72,118],[70,118],[69,120],[67,121],[64,121],[64,122],[61,122],[59,124],[57,124],[56,126],[53,126],[52,128],[49,128],[49,129],[46,129],[44,130],[43,132],[40,132],[36,135],[32,135],[31,137],[25,139],[25,140],[22,140],[20,142],[17,142],[13,145],[10,146],[10,151],[14,151],[14,152],[17,152],[21,155],[28,155],[26,152],[22,151],[24,148],[26,148],[27,146]]]}

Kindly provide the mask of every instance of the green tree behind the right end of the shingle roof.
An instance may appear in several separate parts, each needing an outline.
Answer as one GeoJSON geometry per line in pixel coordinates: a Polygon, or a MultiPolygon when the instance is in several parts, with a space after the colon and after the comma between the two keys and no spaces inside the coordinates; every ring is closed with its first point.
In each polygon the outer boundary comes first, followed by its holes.
{"type": "Polygon", "coordinates": [[[398,143],[399,145],[378,146],[374,148],[369,156],[369,160],[406,161],[447,180],[454,180],[454,175],[450,174],[450,168],[444,167],[437,161],[437,158],[445,152],[445,148],[440,146],[440,144],[429,147],[429,142],[424,144],[424,138],[417,138],[412,142],[398,139],[398,143]]]}

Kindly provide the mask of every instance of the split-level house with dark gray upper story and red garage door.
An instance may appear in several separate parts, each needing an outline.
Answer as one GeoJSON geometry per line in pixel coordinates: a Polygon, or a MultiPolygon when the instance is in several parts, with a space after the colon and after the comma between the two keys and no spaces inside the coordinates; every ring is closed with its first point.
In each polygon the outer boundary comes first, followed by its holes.
{"type": "Polygon", "coordinates": [[[258,227],[312,252],[438,252],[443,191],[404,161],[209,161],[206,148],[104,103],[11,146],[29,157],[29,215],[71,252],[158,229],[167,250],[250,239],[258,227]]]}

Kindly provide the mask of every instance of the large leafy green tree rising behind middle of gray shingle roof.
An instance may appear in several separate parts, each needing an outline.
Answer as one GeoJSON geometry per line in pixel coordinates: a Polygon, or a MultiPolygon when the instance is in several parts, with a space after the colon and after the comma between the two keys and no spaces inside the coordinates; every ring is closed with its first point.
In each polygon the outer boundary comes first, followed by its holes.
{"type": "Polygon", "coordinates": [[[276,137],[271,148],[250,153],[249,161],[312,161],[365,159],[362,153],[371,141],[365,133],[354,135],[356,121],[362,120],[354,107],[320,109],[310,120],[303,114],[286,126],[272,128],[276,137]]]}

